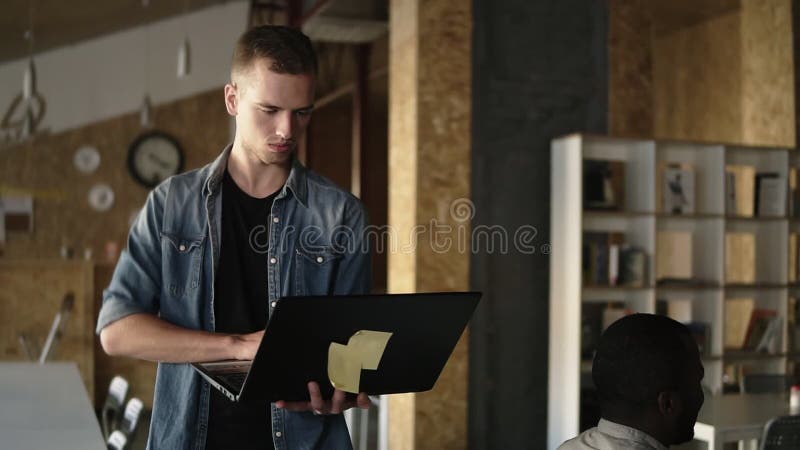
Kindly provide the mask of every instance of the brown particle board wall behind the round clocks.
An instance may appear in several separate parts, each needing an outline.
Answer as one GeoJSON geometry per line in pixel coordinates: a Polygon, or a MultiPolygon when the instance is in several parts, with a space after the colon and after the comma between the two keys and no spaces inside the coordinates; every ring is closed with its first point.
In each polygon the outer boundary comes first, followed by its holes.
{"type": "MultiPolygon", "coordinates": [[[[156,129],[181,143],[185,170],[213,160],[229,140],[222,88],[158,106],[153,118],[156,129]]],[[[76,257],[90,248],[94,258],[102,260],[106,242],[122,248],[130,216],[148,193],[130,177],[126,165],[128,146],[142,131],[138,113],[132,113],[0,151],[0,189],[34,196],[33,233],[9,234],[0,258],[58,258],[66,244],[76,257]],[[83,145],[100,152],[100,167],[91,175],[81,174],[72,163],[83,145]],[[89,189],[96,183],[114,190],[114,206],[107,212],[89,206],[89,189]]]]}

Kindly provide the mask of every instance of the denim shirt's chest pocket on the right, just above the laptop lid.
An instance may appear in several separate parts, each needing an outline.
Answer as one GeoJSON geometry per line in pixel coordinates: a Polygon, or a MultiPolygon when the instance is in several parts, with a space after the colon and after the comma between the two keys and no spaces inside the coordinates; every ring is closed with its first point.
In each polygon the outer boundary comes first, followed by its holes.
{"type": "Polygon", "coordinates": [[[329,295],[333,292],[342,254],[329,247],[295,249],[294,295],[329,295]]]}

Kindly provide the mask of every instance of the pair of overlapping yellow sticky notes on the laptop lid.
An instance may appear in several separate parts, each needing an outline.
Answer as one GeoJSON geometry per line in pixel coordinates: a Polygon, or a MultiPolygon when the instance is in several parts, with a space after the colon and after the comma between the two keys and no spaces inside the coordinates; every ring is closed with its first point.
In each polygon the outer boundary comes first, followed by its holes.
{"type": "Polygon", "coordinates": [[[360,330],[347,345],[332,342],[328,347],[328,378],[336,389],[360,392],[361,369],[378,370],[392,333],[360,330]]]}

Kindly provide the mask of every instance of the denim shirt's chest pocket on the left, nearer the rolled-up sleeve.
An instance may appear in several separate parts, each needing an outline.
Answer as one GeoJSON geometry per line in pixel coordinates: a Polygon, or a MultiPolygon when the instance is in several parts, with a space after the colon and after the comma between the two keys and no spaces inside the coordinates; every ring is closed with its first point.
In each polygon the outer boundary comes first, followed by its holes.
{"type": "Polygon", "coordinates": [[[182,237],[161,233],[164,287],[170,296],[184,298],[200,284],[204,237],[182,237]]]}

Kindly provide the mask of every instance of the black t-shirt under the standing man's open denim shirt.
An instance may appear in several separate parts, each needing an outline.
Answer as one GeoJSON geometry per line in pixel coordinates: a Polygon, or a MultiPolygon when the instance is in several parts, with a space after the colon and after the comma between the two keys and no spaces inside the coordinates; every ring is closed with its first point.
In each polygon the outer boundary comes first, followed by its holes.
{"type": "MultiPolygon", "coordinates": [[[[280,192],[280,191],[278,191],[280,192]]],[[[267,237],[269,214],[278,192],[250,197],[225,172],[222,229],[214,286],[218,333],[252,333],[267,324],[267,237]]],[[[211,389],[206,450],[274,449],[269,404],[234,403],[211,389]]]]}

